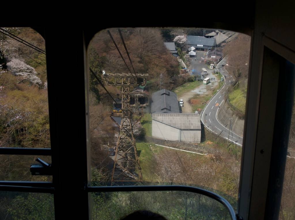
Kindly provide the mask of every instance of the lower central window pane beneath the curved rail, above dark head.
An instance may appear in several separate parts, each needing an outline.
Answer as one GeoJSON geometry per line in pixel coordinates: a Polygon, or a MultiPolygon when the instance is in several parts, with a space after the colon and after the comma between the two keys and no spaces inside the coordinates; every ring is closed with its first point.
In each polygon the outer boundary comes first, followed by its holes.
{"type": "Polygon", "coordinates": [[[92,199],[92,219],[121,219],[138,210],[148,210],[166,219],[230,219],[225,206],[197,193],[106,192],[92,193],[92,199]]]}

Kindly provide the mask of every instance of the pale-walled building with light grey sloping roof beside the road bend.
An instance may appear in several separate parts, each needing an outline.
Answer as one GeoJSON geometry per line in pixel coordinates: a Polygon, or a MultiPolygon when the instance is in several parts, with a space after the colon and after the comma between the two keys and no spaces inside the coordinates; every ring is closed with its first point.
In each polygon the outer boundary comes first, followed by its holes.
{"type": "Polygon", "coordinates": [[[163,140],[200,143],[200,115],[198,113],[153,113],[152,136],[163,140]]]}

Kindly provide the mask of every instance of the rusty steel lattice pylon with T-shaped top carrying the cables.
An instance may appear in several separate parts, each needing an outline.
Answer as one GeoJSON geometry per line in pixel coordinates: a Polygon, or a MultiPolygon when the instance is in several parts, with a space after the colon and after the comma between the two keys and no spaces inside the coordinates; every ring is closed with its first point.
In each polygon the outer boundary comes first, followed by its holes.
{"type": "MultiPolygon", "coordinates": [[[[104,74],[108,85],[122,89],[122,120],[114,156],[111,185],[131,185],[142,182],[140,162],[133,136],[132,115],[141,113],[130,110],[130,86],[145,85],[148,74],[104,74]],[[139,81],[139,82],[138,82],[139,81]]],[[[137,99],[138,105],[138,99],[137,99]]]]}

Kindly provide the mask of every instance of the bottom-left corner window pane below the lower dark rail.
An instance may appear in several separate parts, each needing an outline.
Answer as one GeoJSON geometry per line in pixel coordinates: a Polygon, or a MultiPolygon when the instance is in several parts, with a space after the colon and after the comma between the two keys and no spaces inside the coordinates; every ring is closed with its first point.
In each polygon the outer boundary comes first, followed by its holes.
{"type": "Polygon", "coordinates": [[[54,219],[53,195],[0,191],[0,219],[54,219]]]}

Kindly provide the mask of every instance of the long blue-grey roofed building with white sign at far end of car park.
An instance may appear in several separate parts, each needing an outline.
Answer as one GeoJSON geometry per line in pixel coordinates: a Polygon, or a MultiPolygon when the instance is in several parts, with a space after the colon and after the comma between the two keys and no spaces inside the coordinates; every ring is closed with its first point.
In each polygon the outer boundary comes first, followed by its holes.
{"type": "Polygon", "coordinates": [[[215,38],[207,38],[207,37],[200,37],[200,36],[187,36],[186,37],[186,44],[189,47],[195,47],[199,50],[208,50],[211,47],[216,46],[215,38]]]}

